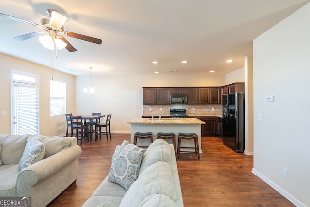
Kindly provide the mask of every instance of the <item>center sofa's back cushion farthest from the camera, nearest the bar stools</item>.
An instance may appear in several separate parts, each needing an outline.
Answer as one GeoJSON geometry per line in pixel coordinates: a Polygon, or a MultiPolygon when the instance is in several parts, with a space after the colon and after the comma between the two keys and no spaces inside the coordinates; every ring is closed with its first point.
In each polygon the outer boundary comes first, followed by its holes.
{"type": "Polygon", "coordinates": [[[175,156],[175,152],[171,150],[169,144],[163,139],[156,139],[144,153],[139,176],[148,166],[155,162],[163,161],[171,165],[172,156],[175,156]]]}

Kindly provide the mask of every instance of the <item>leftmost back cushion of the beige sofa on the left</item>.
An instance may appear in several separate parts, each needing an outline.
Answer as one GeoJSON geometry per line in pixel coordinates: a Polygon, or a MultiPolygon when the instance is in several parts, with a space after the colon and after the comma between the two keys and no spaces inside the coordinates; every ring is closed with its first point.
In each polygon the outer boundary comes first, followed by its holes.
{"type": "Polygon", "coordinates": [[[3,165],[18,164],[24,153],[29,135],[0,135],[3,165]]]}

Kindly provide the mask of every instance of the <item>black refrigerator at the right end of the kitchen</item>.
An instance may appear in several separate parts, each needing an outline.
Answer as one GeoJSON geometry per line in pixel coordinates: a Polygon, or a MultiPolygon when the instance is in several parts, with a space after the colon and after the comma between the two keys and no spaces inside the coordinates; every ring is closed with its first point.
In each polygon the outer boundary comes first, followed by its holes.
{"type": "Polygon", "coordinates": [[[223,95],[223,143],[244,152],[244,93],[223,95]]]}

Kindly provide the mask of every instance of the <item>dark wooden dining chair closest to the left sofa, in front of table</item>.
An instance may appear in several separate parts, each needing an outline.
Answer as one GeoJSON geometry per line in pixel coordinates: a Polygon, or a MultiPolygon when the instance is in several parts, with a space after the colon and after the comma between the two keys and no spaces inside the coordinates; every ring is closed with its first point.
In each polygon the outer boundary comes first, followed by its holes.
{"type": "Polygon", "coordinates": [[[71,121],[71,136],[73,136],[74,130],[76,131],[76,137],[78,142],[78,135],[81,135],[81,145],[83,139],[86,139],[89,141],[89,131],[88,131],[88,125],[83,123],[82,116],[70,116],[71,121]]]}

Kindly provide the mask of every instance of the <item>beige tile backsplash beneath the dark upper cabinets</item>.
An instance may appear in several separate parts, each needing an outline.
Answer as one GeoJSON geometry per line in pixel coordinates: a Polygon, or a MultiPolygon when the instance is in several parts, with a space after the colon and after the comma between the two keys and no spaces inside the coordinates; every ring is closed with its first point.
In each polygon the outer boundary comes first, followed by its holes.
{"type": "Polygon", "coordinates": [[[186,109],[186,114],[189,116],[222,116],[223,110],[221,104],[143,105],[143,116],[159,116],[160,113],[162,113],[162,116],[170,116],[170,109],[186,109]],[[160,108],[162,108],[162,111],[160,111],[160,108]]]}

